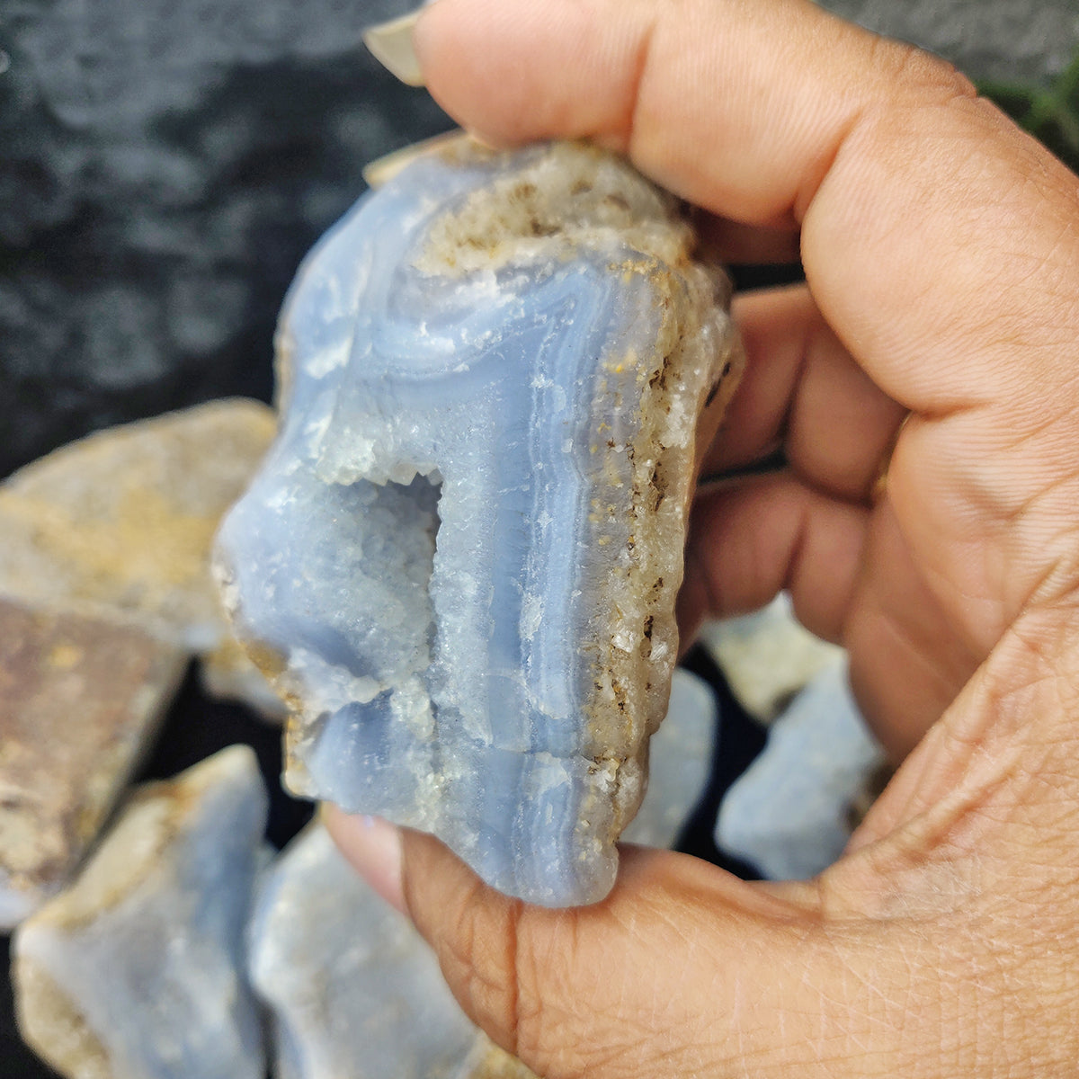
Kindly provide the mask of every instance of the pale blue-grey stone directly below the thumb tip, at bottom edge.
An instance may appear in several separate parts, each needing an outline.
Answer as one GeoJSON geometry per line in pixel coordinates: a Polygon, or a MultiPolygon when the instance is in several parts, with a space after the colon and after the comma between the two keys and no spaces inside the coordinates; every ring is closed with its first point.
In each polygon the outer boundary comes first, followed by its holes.
{"type": "Polygon", "coordinates": [[[249,940],[277,1079],[451,1077],[475,1056],[478,1032],[434,953],[317,822],[265,875],[249,940]]]}

